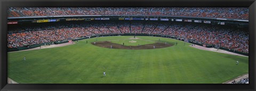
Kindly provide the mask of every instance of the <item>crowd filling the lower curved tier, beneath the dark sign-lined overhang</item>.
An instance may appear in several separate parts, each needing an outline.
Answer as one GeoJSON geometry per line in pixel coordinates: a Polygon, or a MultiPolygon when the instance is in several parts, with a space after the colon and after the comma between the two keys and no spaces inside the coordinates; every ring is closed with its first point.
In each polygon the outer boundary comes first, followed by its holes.
{"type": "Polygon", "coordinates": [[[144,33],[172,35],[183,40],[220,46],[230,50],[249,53],[249,31],[245,28],[230,28],[220,25],[195,23],[166,23],[152,21],[106,21],[84,23],[41,23],[20,29],[9,29],[8,47],[24,44],[39,44],[65,39],[75,39],[94,34],[144,33]],[[19,31],[19,32],[17,32],[19,31]]]}

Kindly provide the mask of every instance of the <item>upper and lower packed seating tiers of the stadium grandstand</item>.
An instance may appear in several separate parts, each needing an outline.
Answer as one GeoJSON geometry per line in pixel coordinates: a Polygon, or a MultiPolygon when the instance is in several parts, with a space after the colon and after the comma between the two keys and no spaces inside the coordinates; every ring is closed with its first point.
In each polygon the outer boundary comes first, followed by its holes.
{"type": "MultiPolygon", "coordinates": [[[[170,15],[192,17],[219,17],[248,20],[247,8],[204,7],[11,7],[9,17],[51,15],[170,15]],[[51,11],[51,12],[49,12],[51,11]],[[93,13],[94,12],[94,13],[93,13]],[[227,15],[226,15],[227,14],[227,15]]],[[[8,47],[24,44],[62,41],[86,37],[92,34],[160,34],[173,35],[207,46],[215,45],[249,52],[249,32],[246,28],[229,28],[205,24],[170,23],[164,21],[102,21],[18,25],[9,28],[8,47]],[[225,40],[228,39],[228,40],[225,40]]]]}

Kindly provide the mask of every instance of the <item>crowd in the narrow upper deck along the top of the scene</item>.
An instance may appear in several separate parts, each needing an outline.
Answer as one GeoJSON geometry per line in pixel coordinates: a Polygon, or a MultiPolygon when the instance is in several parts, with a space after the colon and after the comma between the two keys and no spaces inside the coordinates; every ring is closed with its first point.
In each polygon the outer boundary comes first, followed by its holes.
{"type": "Polygon", "coordinates": [[[10,7],[9,17],[56,15],[150,15],[249,19],[245,7],[10,7]]]}

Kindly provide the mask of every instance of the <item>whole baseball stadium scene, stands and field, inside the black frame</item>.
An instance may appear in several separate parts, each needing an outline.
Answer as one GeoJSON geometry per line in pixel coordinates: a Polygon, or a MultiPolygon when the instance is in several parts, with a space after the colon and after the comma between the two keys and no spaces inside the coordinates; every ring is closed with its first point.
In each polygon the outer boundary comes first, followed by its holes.
{"type": "Polygon", "coordinates": [[[245,7],[10,7],[9,84],[248,84],[245,7]]]}

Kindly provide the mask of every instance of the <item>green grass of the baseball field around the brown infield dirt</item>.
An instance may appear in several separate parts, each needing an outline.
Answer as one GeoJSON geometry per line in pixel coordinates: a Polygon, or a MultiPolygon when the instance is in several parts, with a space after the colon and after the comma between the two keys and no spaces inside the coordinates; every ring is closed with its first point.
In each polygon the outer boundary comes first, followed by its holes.
{"type": "Polygon", "coordinates": [[[249,58],[199,50],[183,41],[158,37],[138,37],[137,43],[173,43],[161,49],[127,50],[93,46],[90,42],[118,44],[133,36],[80,40],[65,47],[9,52],[8,77],[18,83],[118,83],[176,84],[223,83],[249,71],[249,58]],[[178,46],[176,46],[178,42],[178,46]],[[23,57],[26,56],[26,61],[23,57]],[[239,65],[236,65],[239,60],[239,65]],[[106,71],[106,77],[102,72],[106,71]]]}

